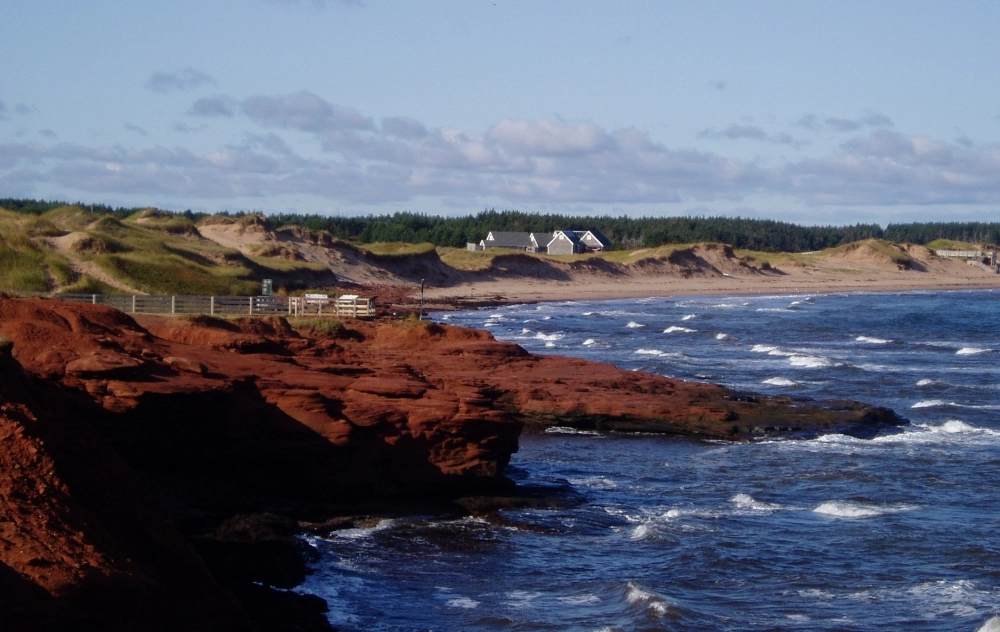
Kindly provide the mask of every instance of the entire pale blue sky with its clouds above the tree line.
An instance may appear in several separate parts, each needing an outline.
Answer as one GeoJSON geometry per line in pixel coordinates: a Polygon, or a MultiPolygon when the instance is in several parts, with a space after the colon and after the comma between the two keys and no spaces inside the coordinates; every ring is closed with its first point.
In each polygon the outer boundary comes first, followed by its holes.
{"type": "Polygon", "coordinates": [[[1000,221],[996,0],[0,2],[0,197],[1000,221]]]}

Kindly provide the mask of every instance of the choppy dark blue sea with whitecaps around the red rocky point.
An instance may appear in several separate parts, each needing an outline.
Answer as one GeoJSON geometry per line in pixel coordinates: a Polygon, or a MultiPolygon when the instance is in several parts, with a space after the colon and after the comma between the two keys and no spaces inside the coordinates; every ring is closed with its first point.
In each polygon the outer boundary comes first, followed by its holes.
{"type": "Polygon", "coordinates": [[[547,432],[588,502],[312,543],[343,630],[1000,630],[1000,293],[650,298],[437,315],[535,353],[911,420],[873,440],[547,432]]]}

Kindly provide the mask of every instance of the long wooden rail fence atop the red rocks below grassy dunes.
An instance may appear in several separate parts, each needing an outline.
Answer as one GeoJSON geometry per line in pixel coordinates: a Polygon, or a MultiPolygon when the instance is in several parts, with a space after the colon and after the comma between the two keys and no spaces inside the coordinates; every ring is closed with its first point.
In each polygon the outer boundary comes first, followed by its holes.
{"type": "Polygon", "coordinates": [[[162,294],[46,294],[64,301],[108,305],[129,314],[209,316],[327,316],[372,318],[375,299],[325,294],[306,296],[167,296],[162,294]]]}

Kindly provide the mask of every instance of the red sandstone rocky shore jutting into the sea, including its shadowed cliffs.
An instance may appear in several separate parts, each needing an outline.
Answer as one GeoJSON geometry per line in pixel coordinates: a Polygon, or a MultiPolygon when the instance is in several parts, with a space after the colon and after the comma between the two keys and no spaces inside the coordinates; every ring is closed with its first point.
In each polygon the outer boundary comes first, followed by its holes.
{"type": "Polygon", "coordinates": [[[574,502],[523,428],[747,441],[905,423],[540,357],[416,320],[131,317],[0,297],[0,628],[329,629],[297,536],[574,502]],[[12,344],[11,344],[12,343],[12,344]]]}

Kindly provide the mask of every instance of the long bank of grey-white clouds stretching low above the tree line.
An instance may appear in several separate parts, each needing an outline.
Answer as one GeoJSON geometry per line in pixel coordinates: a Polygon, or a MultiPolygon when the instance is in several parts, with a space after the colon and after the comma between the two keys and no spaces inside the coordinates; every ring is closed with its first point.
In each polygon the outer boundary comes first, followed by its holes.
{"type": "MultiPolygon", "coordinates": [[[[174,79],[162,85],[181,89],[174,79]]],[[[150,201],[309,194],[360,210],[425,196],[500,199],[521,208],[739,203],[753,196],[853,207],[1000,203],[1000,146],[904,134],[880,114],[804,117],[801,127],[848,136],[827,156],[778,165],[671,148],[643,130],[593,123],[505,119],[477,133],[404,116],[376,122],[308,91],[202,98],[187,114],[200,123],[237,122],[246,128],[243,140],[206,152],[7,143],[0,145],[0,187],[23,195],[55,189],[150,201]]],[[[752,125],[701,135],[799,142],[752,125]]]]}

